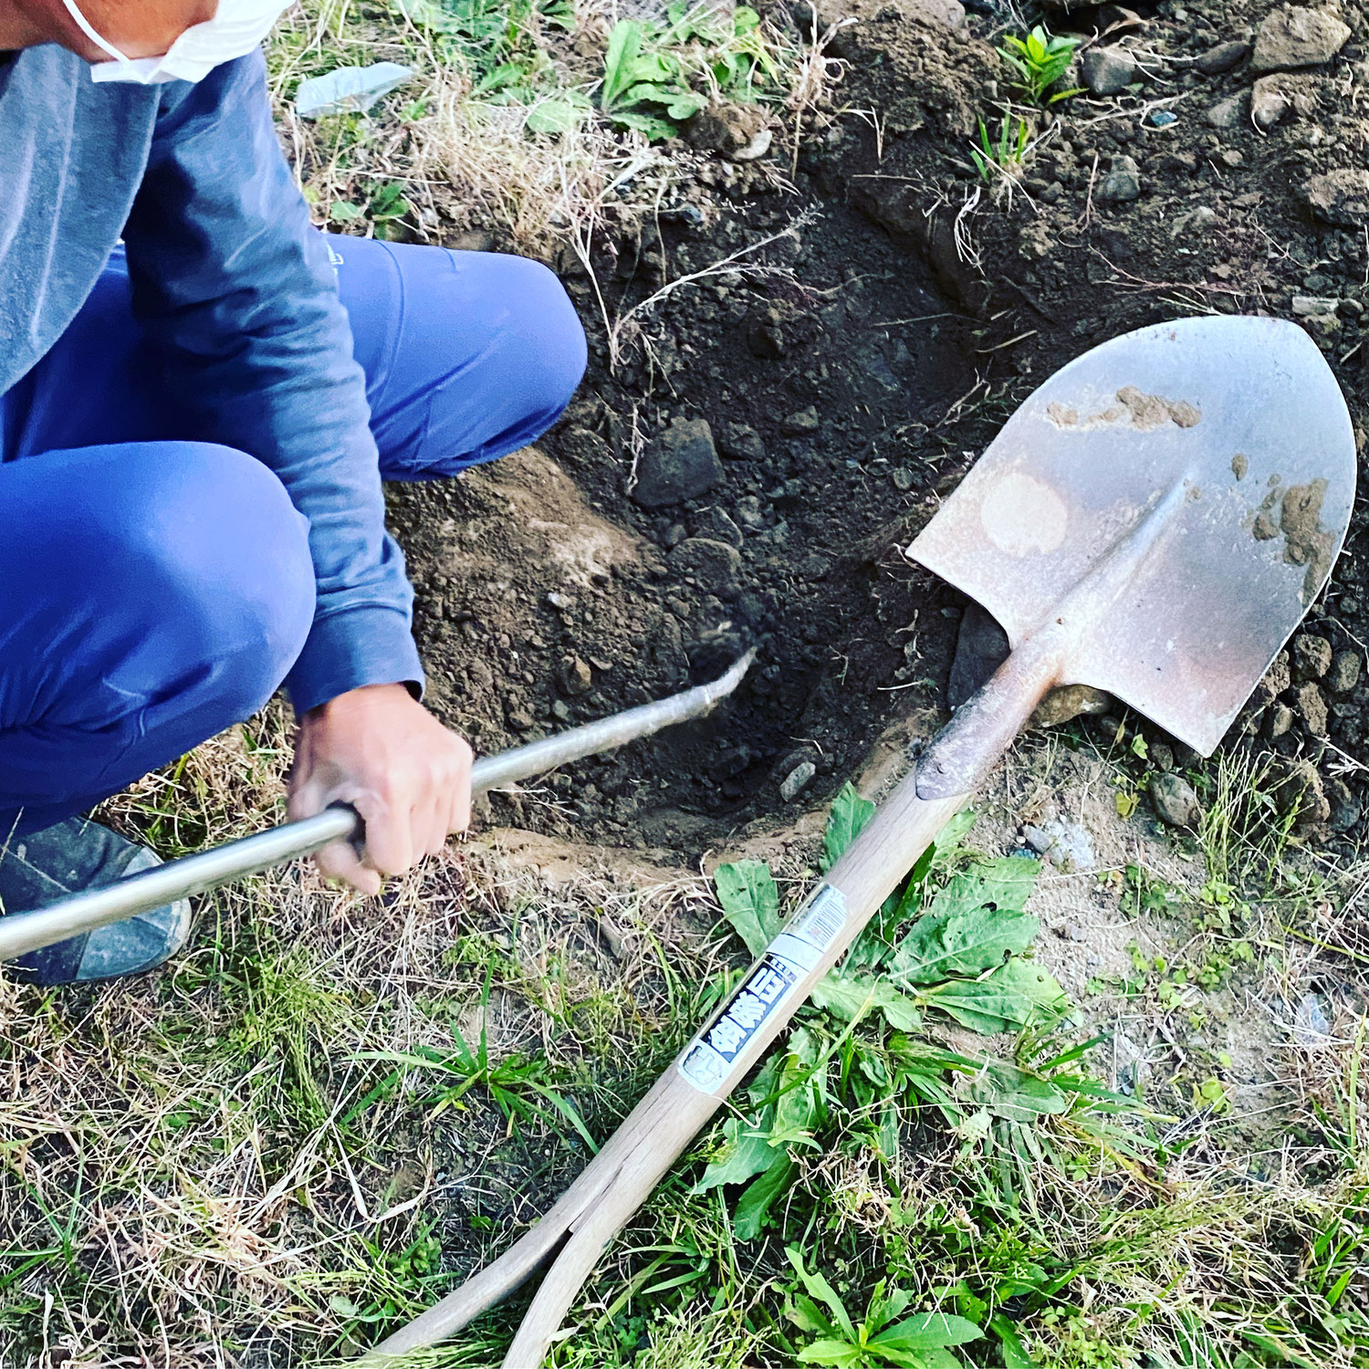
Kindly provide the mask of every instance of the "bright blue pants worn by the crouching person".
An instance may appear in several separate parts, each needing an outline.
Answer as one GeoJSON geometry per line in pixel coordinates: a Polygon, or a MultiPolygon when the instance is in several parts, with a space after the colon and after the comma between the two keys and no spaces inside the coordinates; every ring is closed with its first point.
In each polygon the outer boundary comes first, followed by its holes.
{"type": "MultiPolygon", "coordinates": [[[[455,475],[570,401],[585,335],[522,257],[333,238],[381,474],[455,475]]],[[[285,486],[159,393],[120,256],[0,396],[0,842],[93,806],[259,709],[314,570],[285,486]]]]}

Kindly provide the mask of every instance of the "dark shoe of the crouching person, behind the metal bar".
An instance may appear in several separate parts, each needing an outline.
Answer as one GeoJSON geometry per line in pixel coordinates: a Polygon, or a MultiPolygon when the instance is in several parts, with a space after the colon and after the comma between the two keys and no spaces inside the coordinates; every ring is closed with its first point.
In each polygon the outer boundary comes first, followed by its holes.
{"type": "MultiPolygon", "coordinates": [[[[67,894],[99,888],[160,864],[160,857],[146,846],[89,819],[68,817],[41,832],[11,836],[0,847],[0,909],[18,913],[42,908],[67,894]]],[[[189,932],[190,902],[181,898],[29,951],[4,969],[44,987],[138,975],[174,956],[189,932]]]]}

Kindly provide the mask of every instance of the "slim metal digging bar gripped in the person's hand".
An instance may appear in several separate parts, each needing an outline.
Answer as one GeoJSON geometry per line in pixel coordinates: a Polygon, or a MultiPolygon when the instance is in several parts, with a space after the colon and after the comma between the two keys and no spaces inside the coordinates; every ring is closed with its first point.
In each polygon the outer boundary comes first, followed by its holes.
{"type": "MultiPolygon", "coordinates": [[[[665,727],[701,717],[737,689],[754,658],[756,652],[750,650],[708,684],[630,708],[597,723],[572,727],[498,756],[485,756],[471,767],[471,791],[485,794],[501,784],[542,775],[570,761],[611,752],[665,727]]],[[[283,823],[255,836],[244,836],[196,856],[168,861],[103,888],[71,894],[30,912],[10,913],[0,917],[0,961],[14,960],[30,950],[107,927],[190,894],[203,894],[208,888],[256,875],[287,860],[312,856],[330,842],[355,841],[361,836],[361,831],[356,809],[337,804],[314,817],[283,823]]]]}

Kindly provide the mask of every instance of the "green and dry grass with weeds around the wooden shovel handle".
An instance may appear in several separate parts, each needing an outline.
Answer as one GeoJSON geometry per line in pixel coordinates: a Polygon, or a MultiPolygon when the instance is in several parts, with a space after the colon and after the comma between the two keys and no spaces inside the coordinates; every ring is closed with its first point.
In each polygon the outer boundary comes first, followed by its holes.
{"type": "MultiPolygon", "coordinates": [[[[270,809],[279,735],[271,716],[192,757],[182,815],[163,776],[112,816],[222,839],[242,799],[270,809]]],[[[843,795],[809,858],[864,813],[843,795]]],[[[1057,998],[1021,1031],[947,1038],[942,1005],[972,999],[936,990],[986,976],[964,951],[942,968],[947,916],[1029,964],[1005,876],[1032,867],[943,843],[850,957],[861,997],[802,1010],[613,1243],[550,1364],[1358,1362],[1362,1034],[1257,1162],[1191,1125],[1199,1101],[1166,1118],[1110,1095],[1057,998]]],[[[726,916],[764,932],[804,879],[780,871],[772,904],[758,871],[723,876],[726,916]]],[[[745,958],[730,925],[690,930],[709,906],[697,880],[550,890],[471,853],[381,905],[294,876],[225,893],[140,984],[5,986],[0,1357],[344,1362],[515,1239],[668,1064],[745,958]],[[605,910],[623,961],[578,934],[605,910]]],[[[496,1362],[524,1305],[413,1362],[496,1362]]]]}

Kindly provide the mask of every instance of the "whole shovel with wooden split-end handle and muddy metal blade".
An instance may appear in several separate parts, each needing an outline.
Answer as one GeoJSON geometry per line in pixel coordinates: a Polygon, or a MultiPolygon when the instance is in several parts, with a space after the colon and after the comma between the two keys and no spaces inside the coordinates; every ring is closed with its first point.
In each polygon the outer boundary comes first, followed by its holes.
{"type": "Polygon", "coordinates": [[[1209,754],[1317,597],[1354,497],[1350,415],[1295,324],[1106,342],[1009,419],[908,554],[1012,654],[550,1212],[364,1358],[433,1344],[557,1251],[504,1369],[534,1369],[604,1247],[741,1083],[1047,690],[1092,684],[1209,754]]]}

